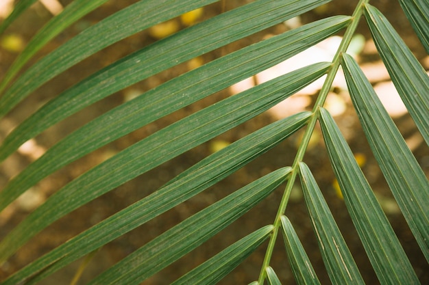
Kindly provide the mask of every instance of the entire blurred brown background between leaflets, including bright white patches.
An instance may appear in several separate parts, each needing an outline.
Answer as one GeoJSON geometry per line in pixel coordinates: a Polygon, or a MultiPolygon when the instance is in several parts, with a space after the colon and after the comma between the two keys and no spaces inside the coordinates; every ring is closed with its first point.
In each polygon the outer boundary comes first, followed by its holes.
{"type": "MultiPolygon", "coordinates": [[[[0,0],[0,18],[7,16],[8,12],[10,12],[10,9],[13,7],[13,2],[14,1],[0,0]]],[[[53,15],[58,14],[62,10],[62,7],[70,2],[71,1],[40,0],[36,2],[31,9],[25,12],[9,29],[7,29],[3,35],[0,36],[0,78],[4,76],[16,55],[23,50],[25,44],[29,42],[36,31],[49,21],[53,15]]],[[[136,1],[108,1],[106,4],[102,5],[101,8],[88,14],[49,42],[49,44],[47,44],[36,55],[36,57],[27,64],[27,66],[34,64],[38,58],[47,55],[47,53],[53,51],[53,49],[56,49],[58,46],[87,27],[94,25],[106,16],[109,16],[134,2],[136,1]]],[[[60,76],[49,81],[49,83],[42,85],[42,87],[36,90],[32,96],[25,99],[23,103],[18,105],[11,113],[8,114],[8,116],[1,120],[0,141],[3,140],[5,135],[10,133],[16,125],[36,111],[38,107],[47,103],[48,100],[57,96],[60,92],[66,90],[68,87],[71,87],[90,74],[93,74],[93,72],[96,72],[100,68],[108,66],[121,57],[156,42],[156,40],[159,40],[160,38],[169,36],[169,34],[174,33],[175,31],[184,29],[190,25],[198,23],[199,21],[204,21],[206,18],[220,14],[225,10],[232,10],[249,2],[250,1],[246,0],[219,1],[212,5],[208,5],[203,9],[184,14],[167,23],[162,23],[156,27],[152,27],[151,29],[136,33],[117,44],[113,44],[112,46],[103,49],[88,59],[85,59],[83,62],[73,66],[63,74],[60,74],[60,76]]],[[[256,33],[253,36],[239,40],[229,44],[228,46],[224,46],[221,49],[217,49],[211,53],[202,55],[201,57],[191,59],[184,64],[175,66],[174,68],[166,70],[160,74],[156,74],[154,77],[150,77],[140,83],[127,87],[125,90],[117,92],[116,94],[79,111],[67,120],[49,128],[41,135],[38,135],[35,139],[27,141],[27,143],[19,148],[18,152],[13,154],[6,161],[3,161],[3,163],[0,164],[0,189],[7,184],[8,180],[12,176],[21,172],[26,165],[40,157],[49,147],[56,144],[57,141],[75,129],[79,128],[79,126],[83,126],[86,122],[89,122],[93,118],[101,115],[101,113],[105,113],[113,107],[121,105],[127,100],[131,100],[135,96],[139,96],[143,92],[150,90],[151,88],[156,87],[179,74],[192,70],[193,68],[197,68],[206,62],[210,62],[213,59],[241,49],[242,47],[254,42],[283,33],[289,29],[294,29],[319,18],[325,18],[326,16],[337,14],[350,15],[352,14],[356,3],[358,3],[357,0],[332,1],[327,5],[323,5],[316,10],[312,10],[302,16],[293,18],[290,21],[286,21],[285,23],[276,25],[260,33],[256,33]]],[[[424,68],[428,70],[429,57],[421,46],[417,36],[415,36],[413,29],[410,27],[399,3],[397,3],[397,1],[389,0],[374,0],[371,1],[371,4],[375,5],[376,8],[387,16],[393,27],[395,27],[396,31],[400,33],[417,59],[419,59],[424,68]]],[[[313,62],[329,62],[332,59],[340,41],[341,33],[339,33],[338,36],[328,38],[328,40],[317,44],[309,51],[305,51],[302,55],[297,55],[296,57],[293,57],[293,59],[289,59],[278,66],[274,66],[269,70],[265,70],[260,74],[256,74],[254,77],[242,81],[241,83],[237,83],[236,85],[228,88],[228,90],[223,90],[222,92],[213,94],[209,98],[201,100],[194,105],[185,107],[184,109],[171,114],[171,116],[167,116],[166,118],[162,118],[149,126],[140,128],[130,135],[118,139],[117,141],[88,154],[86,157],[71,163],[71,165],[64,167],[64,169],[61,169],[48,178],[45,178],[39,182],[38,185],[29,189],[29,191],[23,194],[18,200],[16,200],[16,202],[6,208],[5,211],[0,213],[0,239],[10,232],[10,230],[19,223],[19,221],[25,218],[28,213],[33,211],[34,208],[42,204],[49,195],[60,189],[67,182],[86,172],[91,167],[94,167],[109,157],[112,157],[112,155],[123,150],[127,146],[134,144],[136,141],[140,141],[140,139],[147,137],[147,135],[158,131],[164,126],[187,116],[189,113],[193,113],[217,102],[218,100],[246,90],[249,87],[265,82],[274,77],[278,77],[280,74],[290,72],[291,70],[295,70],[302,66],[307,66],[313,62]]],[[[397,127],[404,135],[408,147],[413,151],[417,161],[419,161],[424,172],[428,175],[428,146],[426,146],[421,135],[419,135],[415,124],[408,116],[408,113],[397,95],[393,84],[389,80],[389,74],[378,56],[364,18],[362,18],[359,25],[358,34],[352,40],[349,53],[354,55],[356,60],[360,63],[360,66],[363,68],[363,71],[367,75],[369,81],[373,84],[387,111],[389,111],[395,120],[397,127]]],[[[147,174],[138,176],[138,178],[125,183],[125,185],[118,187],[114,191],[111,191],[110,193],[101,196],[101,198],[86,204],[86,206],[77,209],[71,213],[71,215],[67,215],[60,219],[52,226],[38,234],[8,262],[1,265],[0,280],[3,280],[5,277],[25,266],[25,264],[34,260],[38,256],[45,254],[50,249],[53,249],[53,247],[64,243],[64,241],[75,236],[75,234],[86,230],[102,219],[105,219],[133,202],[144,198],[149,193],[156,191],[156,189],[164,185],[165,182],[173,178],[175,175],[179,174],[187,167],[197,163],[197,161],[203,159],[212,152],[215,152],[224,146],[228,146],[228,144],[233,141],[252,133],[262,126],[266,126],[270,122],[290,116],[298,111],[310,110],[312,108],[312,103],[314,103],[315,98],[317,98],[317,93],[321,87],[321,83],[323,83],[323,79],[313,83],[310,87],[307,87],[305,90],[302,90],[302,92],[288,98],[262,115],[249,120],[237,128],[234,128],[232,131],[224,133],[212,141],[208,141],[208,143],[186,152],[168,163],[164,163],[147,174]]],[[[334,88],[328,95],[326,108],[334,116],[343,135],[354,151],[356,160],[363,169],[363,172],[365,173],[372,189],[375,191],[385,213],[387,213],[387,217],[389,218],[389,221],[391,221],[393,229],[397,233],[410,262],[413,264],[413,267],[415,267],[415,271],[419,276],[421,283],[429,284],[428,264],[424,259],[424,256],[421,254],[420,249],[413,238],[413,234],[411,234],[408,229],[395,200],[393,200],[389,187],[384,181],[380,169],[369,150],[365,135],[360,128],[356,113],[347,93],[345,81],[341,77],[341,74],[339,74],[334,81],[334,88]]],[[[136,230],[125,234],[125,236],[122,236],[120,239],[105,245],[101,250],[99,250],[99,252],[97,252],[97,254],[95,254],[93,260],[88,264],[81,280],[79,280],[77,284],[85,284],[91,278],[95,277],[95,275],[108,269],[112,264],[118,262],[127,256],[127,254],[134,252],[138,247],[153,239],[154,236],[168,230],[175,224],[193,215],[193,213],[197,213],[197,211],[202,208],[205,208],[209,204],[225,197],[225,195],[232,193],[232,191],[247,185],[249,182],[260,178],[279,167],[291,165],[295,158],[297,146],[299,145],[301,137],[301,132],[296,133],[286,141],[283,141],[273,150],[267,152],[267,154],[255,161],[252,161],[252,163],[249,163],[245,168],[238,170],[234,175],[219,182],[215,187],[211,187],[203,193],[195,196],[195,198],[192,198],[191,200],[180,204],[180,206],[173,208],[164,215],[161,215],[157,219],[154,219],[153,221],[140,226],[136,230]]],[[[323,146],[323,138],[321,137],[321,133],[318,129],[312,136],[304,161],[308,164],[313,174],[315,174],[319,187],[321,188],[323,195],[325,195],[332,214],[334,215],[336,222],[339,224],[339,228],[343,232],[347,245],[349,245],[350,250],[354,255],[365,282],[367,282],[367,284],[378,284],[376,275],[371,268],[371,264],[369,264],[369,260],[365,254],[363,254],[363,247],[360,244],[354,227],[352,226],[352,221],[347,214],[347,210],[341,198],[341,193],[339,193],[338,185],[329,166],[328,157],[323,146]]],[[[184,258],[173,263],[170,267],[167,267],[167,269],[160,271],[160,273],[143,282],[143,284],[169,284],[177,279],[177,277],[180,277],[201,262],[204,262],[206,259],[217,254],[217,252],[228,247],[228,245],[234,243],[234,241],[241,239],[243,236],[260,228],[261,226],[273,223],[283,190],[284,188],[279,188],[270,195],[269,198],[261,202],[256,206],[256,208],[252,209],[252,211],[249,211],[249,213],[244,215],[241,219],[238,219],[238,221],[234,222],[226,230],[217,234],[217,236],[210,239],[210,241],[206,242],[194,252],[191,252],[191,254],[184,256],[184,258]]],[[[328,275],[324,271],[323,262],[319,255],[317,241],[312,232],[310,219],[306,212],[299,183],[297,183],[297,185],[295,185],[295,189],[293,189],[289,205],[286,209],[286,215],[289,217],[293,226],[295,226],[295,230],[297,230],[297,234],[302,239],[304,248],[310,257],[322,284],[328,284],[328,275]]],[[[279,239],[278,245],[275,247],[274,256],[271,260],[271,266],[275,269],[276,273],[278,273],[284,284],[294,284],[295,281],[293,280],[293,275],[289,269],[289,264],[284,253],[284,245],[282,243],[282,239],[279,239]]],[[[243,264],[238,266],[235,271],[221,282],[221,284],[247,284],[257,280],[266,246],[267,243],[262,245],[255,254],[252,254],[252,256],[250,256],[243,264]]],[[[69,267],[66,267],[62,271],[52,275],[41,284],[70,284],[73,279],[73,275],[75,275],[81,262],[82,260],[73,262],[69,267]]]]}

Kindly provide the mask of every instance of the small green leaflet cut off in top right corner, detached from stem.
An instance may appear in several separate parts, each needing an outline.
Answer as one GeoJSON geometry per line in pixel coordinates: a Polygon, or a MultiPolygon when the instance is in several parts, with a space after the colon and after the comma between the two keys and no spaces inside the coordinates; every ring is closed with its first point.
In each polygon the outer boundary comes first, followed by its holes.
{"type": "Polygon", "coordinates": [[[408,21],[429,53],[429,2],[427,0],[399,0],[408,21]]]}

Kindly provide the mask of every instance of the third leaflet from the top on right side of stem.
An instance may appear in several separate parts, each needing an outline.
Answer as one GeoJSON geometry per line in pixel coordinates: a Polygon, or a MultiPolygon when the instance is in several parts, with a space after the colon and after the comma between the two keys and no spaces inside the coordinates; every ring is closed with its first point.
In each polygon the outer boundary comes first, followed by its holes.
{"type": "Polygon", "coordinates": [[[413,267],[356,163],[352,150],[330,113],[323,108],[320,113],[323,139],[332,169],[380,284],[419,284],[413,267]]]}

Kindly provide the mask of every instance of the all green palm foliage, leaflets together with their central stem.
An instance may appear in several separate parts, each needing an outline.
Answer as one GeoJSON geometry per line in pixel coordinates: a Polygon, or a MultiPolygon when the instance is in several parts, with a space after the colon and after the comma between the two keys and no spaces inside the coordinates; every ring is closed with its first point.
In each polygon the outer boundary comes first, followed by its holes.
{"type": "MultiPolygon", "coordinates": [[[[1,24],[0,33],[7,31],[8,26],[33,2],[19,1],[14,12],[1,24]]],[[[0,118],[8,116],[16,105],[38,87],[106,46],[216,1],[137,1],[88,27],[21,72],[29,59],[49,40],[105,2],[72,1],[34,36],[0,83],[0,118]]],[[[1,141],[0,161],[10,157],[25,141],[114,92],[327,2],[253,1],[126,55],[58,94],[23,120],[1,141]]],[[[428,51],[428,1],[400,0],[400,4],[428,51]]],[[[252,276],[257,280],[252,284],[280,284],[280,278],[274,270],[279,264],[271,261],[275,242],[280,239],[279,231],[297,284],[319,284],[304,250],[305,245],[303,247],[293,224],[284,215],[293,185],[298,180],[301,181],[305,205],[332,284],[364,284],[354,256],[347,248],[341,230],[317,185],[317,173],[312,173],[304,163],[304,154],[317,122],[321,126],[326,155],[339,181],[345,206],[378,280],[381,284],[419,284],[350,146],[329,111],[323,108],[334,77],[341,67],[373,156],[421,252],[429,262],[428,179],[360,66],[347,54],[356,27],[363,19],[410,116],[426,144],[429,144],[429,77],[387,18],[369,5],[369,0],[360,0],[351,16],[323,18],[223,55],[107,111],[51,146],[42,157],[11,178],[7,185],[2,185],[0,211],[40,180],[84,155],[283,62],[340,31],[344,33],[332,62],[319,62],[299,68],[220,100],[141,139],[58,189],[0,242],[0,263],[13,256],[38,232],[76,208],[243,124],[326,75],[312,111],[296,113],[273,122],[202,159],[151,195],[40,256],[8,276],[2,284],[40,282],[78,258],[215,185],[299,130],[303,130],[304,135],[292,165],[284,165],[262,176],[178,223],[95,277],[90,284],[140,284],[222,232],[280,185],[284,189],[282,200],[277,215],[267,221],[268,226],[252,233],[243,233],[243,239],[184,274],[174,284],[215,284],[263,246],[265,258],[260,264],[259,274],[252,276]]]]}

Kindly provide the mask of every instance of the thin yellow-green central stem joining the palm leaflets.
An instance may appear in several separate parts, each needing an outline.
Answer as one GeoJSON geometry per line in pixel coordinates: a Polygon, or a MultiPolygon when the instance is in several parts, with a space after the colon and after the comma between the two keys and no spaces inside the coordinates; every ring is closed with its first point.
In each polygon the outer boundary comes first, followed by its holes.
{"type": "Polygon", "coordinates": [[[274,250],[275,241],[277,240],[278,230],[282,224],[280,217],[282,217],[282,215],[286,211],[286,206],[289,201],[289,195],[291,195],[291,191],[295,183],[295,178],[297,177],[297,173],[299,171],[299,163],[304,159],[304,154],[306,153],[306,149],[308,147],[310,137],[313,131],[315,130],[316,122],[319,119],[320,107],[323,107],[323,104],[325,103],[326,97],[328,96],[328,92],[332,86],[332,82],[334,81],[336,72],[338,72],[339,70],[340,57],[343,53],[347,51],[347,47],[349,46],[350,41],[352,40],[352,37],[354,36],[354,33],[356,31],[356,28],[358,27],[360,16],[362,16],[363,6],[365,5],[365,3],[368,3],[368,2],[369,0],[360,0],[358,5],[356,5],[356,9],[352,14],[352,22],[345,30],[343,40],[341,40],[339,49],[336,51],[336,54],[332,59],[332,66],[328,71],[328,76],[326,77],[326,80],[323,83],[323,86],[319,92],[319,96],[317,97],[315,106],[312,109],[313,114],[310,120],[308,121],[308,126],[306,128],[304,136],[302,137],[301,144],[299,144],[297,155],[295,156],[295,160],[293,161],[292,172],[291,174],[289,174],[290,177],[286,184],[286,188],[284,189],[283,197],[282,197],[282,200],[280,201],[277,215],[275,216],[275,220],[273,223],[273,226],[274,226],[273,232],[269,239],[267,252],[265,253],[265,258],[264,258],[264,261],[262,262],[262,267],[260,270],[260,275],[258,279],[259,285],[263,285],[265,278],[267,277],[267,271],[265,269],[269,266],[271,255],[273,254],[273,250],[274,250]]]}

